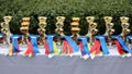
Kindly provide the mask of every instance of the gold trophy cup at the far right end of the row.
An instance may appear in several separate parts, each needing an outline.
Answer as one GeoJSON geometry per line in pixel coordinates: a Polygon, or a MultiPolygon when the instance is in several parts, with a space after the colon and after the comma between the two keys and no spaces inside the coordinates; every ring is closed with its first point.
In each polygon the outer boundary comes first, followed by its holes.
{"type": "Polygon", "coordinates": [[[123,37],[124,41],[128,42],[128,38],[127,37],[130,34],[130,32],[131,32],[129,29],[130,24],[128,23],[129,22],[129,17],[121,16],[120,20],[121,20],[121,27],[122,27],[122,33],[120,35],[123,37]]]}

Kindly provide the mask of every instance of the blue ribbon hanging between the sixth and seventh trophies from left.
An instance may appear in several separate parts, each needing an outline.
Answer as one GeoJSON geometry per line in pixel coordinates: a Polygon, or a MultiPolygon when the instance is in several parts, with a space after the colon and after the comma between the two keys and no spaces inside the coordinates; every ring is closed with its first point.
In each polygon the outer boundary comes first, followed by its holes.
{"type": "Polygon", "coordinates": [[[109,54],[107,42],[106,42],[106,37],[105,36],[96,36],[96,39],[99,39],[103,53],[109,54]]]}

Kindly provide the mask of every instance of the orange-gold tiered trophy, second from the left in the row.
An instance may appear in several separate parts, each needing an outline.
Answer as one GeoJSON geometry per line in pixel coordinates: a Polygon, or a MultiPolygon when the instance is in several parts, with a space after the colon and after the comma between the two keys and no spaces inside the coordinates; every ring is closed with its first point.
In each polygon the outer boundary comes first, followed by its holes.
{"type": "Polygon", "coordinates": [[[22,44],[26,45],[29,41],[29,26],[30,26],[30,17],[23,17],[20,30],[23,34],[22,35],[22,44]]]}

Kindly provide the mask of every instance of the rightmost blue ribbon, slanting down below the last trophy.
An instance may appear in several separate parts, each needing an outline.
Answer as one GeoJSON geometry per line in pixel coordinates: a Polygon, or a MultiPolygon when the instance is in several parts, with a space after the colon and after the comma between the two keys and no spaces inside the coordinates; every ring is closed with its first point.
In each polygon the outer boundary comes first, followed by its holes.
{"type": "Polygon", "coordinates": [[[132,50],[127,46],[127,44],[124,42],[124,40],[121,36],[112,36],[112,39],[117,39],[120,42],[123,50],[125,50],[128,52],[132,52],[132,50]]]}

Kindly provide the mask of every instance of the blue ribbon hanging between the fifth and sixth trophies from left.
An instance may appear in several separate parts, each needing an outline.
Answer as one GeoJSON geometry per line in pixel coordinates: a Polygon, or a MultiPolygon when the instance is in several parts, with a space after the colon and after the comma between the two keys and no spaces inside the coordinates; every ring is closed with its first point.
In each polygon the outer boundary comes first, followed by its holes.
{"type": "Polygon", "coordinates": [[[84,45],[84,52],[82,52],[82,54],[90,54],[90,51],[89,51],[88,45],[87,45],[88,37],[80,36],[80,37],[78,37],[78,39],[81,40],[81,42],[84,45]]]}

